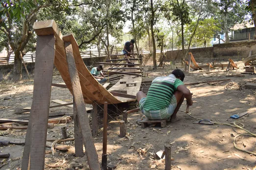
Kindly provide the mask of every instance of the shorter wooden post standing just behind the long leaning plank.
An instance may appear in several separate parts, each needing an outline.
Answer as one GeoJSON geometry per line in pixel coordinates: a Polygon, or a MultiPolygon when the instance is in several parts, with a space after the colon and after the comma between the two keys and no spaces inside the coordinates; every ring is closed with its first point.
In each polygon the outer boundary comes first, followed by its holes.
{"type": "Polygon", "coordinates": [[[75,153],[76,157],[83,156],[83,140],[81,136],[80,125],[77,116],[77,107],[73,98],[73,110],[74,110],[74,137],[75,137],[75,153]]]}

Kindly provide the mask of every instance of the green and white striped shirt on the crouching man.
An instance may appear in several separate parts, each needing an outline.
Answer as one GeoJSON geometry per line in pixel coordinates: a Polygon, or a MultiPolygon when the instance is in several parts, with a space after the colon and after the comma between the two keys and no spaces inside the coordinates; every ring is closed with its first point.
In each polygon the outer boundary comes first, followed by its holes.
{"type": "Polygon", "coordinates": [[[146,111],[161,110],[169,106],[179,85],[184,84],[174,74],[155,78],[149,88],[143,109],[146,111]]]}

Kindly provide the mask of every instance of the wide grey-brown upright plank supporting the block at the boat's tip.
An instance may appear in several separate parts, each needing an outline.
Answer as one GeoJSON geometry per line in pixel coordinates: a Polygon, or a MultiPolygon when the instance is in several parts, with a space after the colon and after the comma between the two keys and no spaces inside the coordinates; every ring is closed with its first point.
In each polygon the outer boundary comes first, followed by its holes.
{"type": "MultiPolygon", "coordinates": [[[[34,91],[33,101],[30,110],[31,127],[31,143],[30,143],[30,170],[44,170],[45,165],[45,147],[47,136],[47,123],[49,116],[49,106],[51,99],[51,81],[53,73],[54,61],[54,44],[55,39],[53,35],[38,36],[36,44],[36,62],[35,62],[35,75],[34,75],[34,91]]],[[[29,133],[27,131],[27,133],[29,133]]],[[[26,138],[29,135],[26,135],[26,138]]],[[[25,149],[26,146],[25,146],[25,149]]],[[[28,168],[27,155],[23,155],[22,169],[28,168]],[[25,166],[25,167],[24,167],[25,166]]]]}

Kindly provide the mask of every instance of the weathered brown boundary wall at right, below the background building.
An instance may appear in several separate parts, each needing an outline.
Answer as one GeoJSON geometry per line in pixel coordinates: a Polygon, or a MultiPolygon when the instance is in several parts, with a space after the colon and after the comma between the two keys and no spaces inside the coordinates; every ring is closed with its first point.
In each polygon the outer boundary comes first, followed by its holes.
{"type": "MultiPolygon", "coordinates": [[[[248,57],[250,51],[252,51],[252,55],[256,54],[256,41],[221,43],[214,44],[212,47],[193,48],[189,50],[197,62],[209,60],[228,61],[229,58],[232,60],[243,60],[248,57]]],[[[182,57],[182,51],[167,51],[166,57],[167,61],[179,61],[182,57]]]]}

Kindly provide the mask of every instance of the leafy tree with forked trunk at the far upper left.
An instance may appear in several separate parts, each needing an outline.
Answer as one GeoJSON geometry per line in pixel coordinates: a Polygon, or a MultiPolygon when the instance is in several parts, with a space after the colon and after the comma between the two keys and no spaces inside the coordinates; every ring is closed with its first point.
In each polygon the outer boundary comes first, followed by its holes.
{"type": "Polygon", "coordinates": [[[69,8],[67,0],[1,0],[0,31],[8,40],[11,50],[14,52],[14,80],[22,78],[21,54],[29,40],[33,36],[32,26],[37,20],[40,10],[46,13],[61,12],[69,8]]]}

